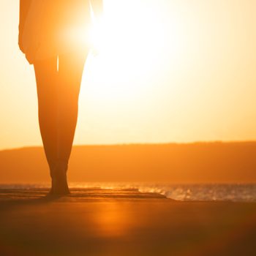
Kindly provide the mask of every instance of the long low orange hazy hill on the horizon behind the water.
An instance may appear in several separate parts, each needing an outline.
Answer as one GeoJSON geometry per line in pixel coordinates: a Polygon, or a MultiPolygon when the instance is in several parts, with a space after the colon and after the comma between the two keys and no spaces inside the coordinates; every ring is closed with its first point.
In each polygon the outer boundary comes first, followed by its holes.
{"type": "MultiPolygon", "coordinates": [[[[42,147],[0,151],[0,183],[45,181],[42,147]]],[[[256,142],[74,146],[69,181],[256,182],[256,142]]]]}

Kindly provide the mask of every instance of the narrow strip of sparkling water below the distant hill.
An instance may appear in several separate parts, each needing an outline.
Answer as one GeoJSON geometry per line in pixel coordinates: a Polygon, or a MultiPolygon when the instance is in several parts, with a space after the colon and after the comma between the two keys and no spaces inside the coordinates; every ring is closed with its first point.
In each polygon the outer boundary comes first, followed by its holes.
{"type": "MultiPolygon", "coordinates": [[[[0,189],[48,188],[49,184],[0,184],[0,189]]],[[[234,201],[256,202],[256,184],[161,184],[161,183],[70,183],[79,189],[97,187],[102,189],[138,189],[155,192],[167,198],[181,201],[234,201]]]]}

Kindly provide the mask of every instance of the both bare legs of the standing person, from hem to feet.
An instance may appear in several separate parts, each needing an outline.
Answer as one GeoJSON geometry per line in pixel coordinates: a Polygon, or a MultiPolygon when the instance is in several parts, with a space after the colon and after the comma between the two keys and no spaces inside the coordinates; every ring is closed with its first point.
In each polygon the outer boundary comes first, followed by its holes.
{"type": "Polygon", "coordinates": [[[70,52],[34,63],[39,127],[53,194],[67,194],[67,165],[78,118],[78,97],[87,53],[70,52]]]}

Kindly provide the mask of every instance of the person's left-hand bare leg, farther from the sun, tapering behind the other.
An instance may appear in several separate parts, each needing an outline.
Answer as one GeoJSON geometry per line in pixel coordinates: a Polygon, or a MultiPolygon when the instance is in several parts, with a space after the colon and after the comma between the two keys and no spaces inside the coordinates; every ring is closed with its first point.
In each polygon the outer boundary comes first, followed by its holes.
{"type": "Polygon", "coordinates": [[[50,172],[57,158],[57,56],[36,61],[39,128],[50,172]]]}

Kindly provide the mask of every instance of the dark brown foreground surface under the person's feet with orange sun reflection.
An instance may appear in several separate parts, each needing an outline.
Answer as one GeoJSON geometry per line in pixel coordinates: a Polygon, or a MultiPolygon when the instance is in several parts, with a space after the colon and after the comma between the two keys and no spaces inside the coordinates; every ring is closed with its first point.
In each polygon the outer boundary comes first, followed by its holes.
{"type": "Polygon", "coordinates": [[[136,189],[0,190],[0,255],[255,255],[256,203],[136,189]]]}

